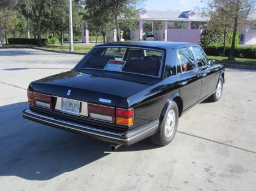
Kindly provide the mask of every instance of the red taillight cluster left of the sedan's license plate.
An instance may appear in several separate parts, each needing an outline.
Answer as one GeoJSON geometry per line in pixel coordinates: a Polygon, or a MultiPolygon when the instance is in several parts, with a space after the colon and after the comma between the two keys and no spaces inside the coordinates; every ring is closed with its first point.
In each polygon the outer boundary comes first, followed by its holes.
{"type": "Polygon", "coordinates": [[[39,105],[41,107],[52,108],[51,96],[43,93],[37,93],[28,90],[28,102],[32,105],[39,105]]]}

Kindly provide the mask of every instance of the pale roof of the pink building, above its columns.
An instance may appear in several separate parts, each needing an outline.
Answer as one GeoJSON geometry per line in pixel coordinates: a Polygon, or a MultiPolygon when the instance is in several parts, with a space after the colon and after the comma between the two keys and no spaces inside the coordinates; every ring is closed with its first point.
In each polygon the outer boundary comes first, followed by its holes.
{"type": "Polygon", "coordinates": [[[190,21],[209,21],[209,17],[203,17],[201,13],[195,11],[156,11],[139,10],[139,17],[143,20],[190,20],[190,21]]]}

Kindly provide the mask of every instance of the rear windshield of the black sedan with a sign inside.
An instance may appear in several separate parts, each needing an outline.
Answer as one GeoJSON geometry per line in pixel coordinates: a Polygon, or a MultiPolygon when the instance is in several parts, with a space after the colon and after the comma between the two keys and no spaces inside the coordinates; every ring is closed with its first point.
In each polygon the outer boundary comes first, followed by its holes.
{"type": "Polygon", "coordinates": [[[147,48],[96,47],[76,68],[130,72],[159,77],[163,51],[147,48]]]}

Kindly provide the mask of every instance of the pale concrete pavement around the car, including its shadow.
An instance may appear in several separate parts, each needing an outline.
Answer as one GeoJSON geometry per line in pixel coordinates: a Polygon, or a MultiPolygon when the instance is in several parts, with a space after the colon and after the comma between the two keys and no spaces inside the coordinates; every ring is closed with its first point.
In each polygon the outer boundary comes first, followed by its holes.
{"type": "Polygon", "coordinates": [[[109,143],[22,118],[32,80],[82,55],[0,49],[0,190],[255,190],[256,71],[227,68],[224,94],[180,118],[174,141],[109,143]]]}

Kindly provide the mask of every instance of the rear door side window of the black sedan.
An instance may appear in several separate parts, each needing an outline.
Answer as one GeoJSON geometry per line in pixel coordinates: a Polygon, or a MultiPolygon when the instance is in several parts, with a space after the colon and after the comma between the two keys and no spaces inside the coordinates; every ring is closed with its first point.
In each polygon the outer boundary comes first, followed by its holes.
{"type": "Polygon", "coordinates": [[[192,51],[189,47],[178,50],[180,57],[180,65],[183,72],[187,72],[196,68],[192,51]]]}

